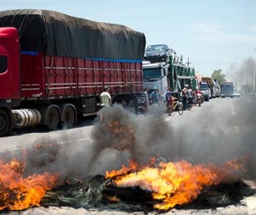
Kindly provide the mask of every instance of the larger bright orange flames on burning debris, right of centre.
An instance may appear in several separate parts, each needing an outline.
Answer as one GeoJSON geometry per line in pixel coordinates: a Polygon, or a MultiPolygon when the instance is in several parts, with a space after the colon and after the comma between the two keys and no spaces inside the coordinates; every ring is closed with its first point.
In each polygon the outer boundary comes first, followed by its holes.
{"type": "Polygon", "coordinates": [[[223,167],[215,167],[192,165],[185,160],[161,161],[158,164],[155,161],[152,159],[151,164],[145,167],[138,167],[130,162],[130,167],[107,172],[106,177],[112,178],[112,182],[118,187],[139,186],[140,189],[151,191],[153,198],[157,200],[154,208],[169,210],[177,204],[192,202],[202,189],[217,185],[231,173],[225,172],[225,169],[231,168],[230,162],[223,167]]]}

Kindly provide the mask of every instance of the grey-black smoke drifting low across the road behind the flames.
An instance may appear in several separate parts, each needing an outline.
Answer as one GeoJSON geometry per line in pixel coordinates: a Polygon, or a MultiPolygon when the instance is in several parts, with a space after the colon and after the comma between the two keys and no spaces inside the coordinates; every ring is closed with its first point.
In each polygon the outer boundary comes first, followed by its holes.
{"type": "Polygon", "coordinates": [[[89,127],[91,139],[83,140],[83,128],[66,130],[56,138],[38,137],[34,147],[22,151],[19,159],[26,162],[27,174],[57,172],[62,180],[67,176],[105,174],[127,165],[129,159],[142,165],[152,158],[200,164],[246,158],[249,172],[255,174],[256,102],[252,98],[231,102],[236,115],[230,116],[222,106],[215,106],[214,114],[210,109],[198,109],[189,115],[185,112],[170,117],[162,115],[160,107],[152,108],[147,117],[134,115],[119,105],[106,107],[100,112],[102,122],[95,121],[89,127]],[[78,140],[73,141],[73,137],[78,140]]]}

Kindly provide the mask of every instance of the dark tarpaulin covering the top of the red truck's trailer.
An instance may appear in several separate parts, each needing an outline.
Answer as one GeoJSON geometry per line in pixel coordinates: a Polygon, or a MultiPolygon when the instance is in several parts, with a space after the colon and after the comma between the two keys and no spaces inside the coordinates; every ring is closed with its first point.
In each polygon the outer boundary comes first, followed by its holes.
{"type": "Polygon", "coordinates": [[[22,51],[46,56],[142,60],[144,33],[47,10],[0,11],[0,26],[19,30],[22,51]]]}

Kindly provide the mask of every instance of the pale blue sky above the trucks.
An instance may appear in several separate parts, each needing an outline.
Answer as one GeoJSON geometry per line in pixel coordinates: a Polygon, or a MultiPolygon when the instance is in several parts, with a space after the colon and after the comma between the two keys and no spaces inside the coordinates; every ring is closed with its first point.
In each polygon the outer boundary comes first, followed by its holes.
{"type": "Polygon", "coordinates": [[[46,9],[129,26],[166,43],[203,76],[256,60],[255,0],[0,0],[1,11],[46,9]]]}

